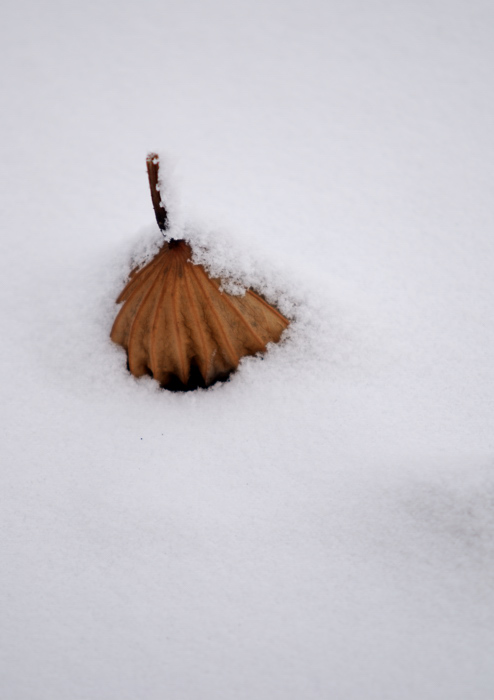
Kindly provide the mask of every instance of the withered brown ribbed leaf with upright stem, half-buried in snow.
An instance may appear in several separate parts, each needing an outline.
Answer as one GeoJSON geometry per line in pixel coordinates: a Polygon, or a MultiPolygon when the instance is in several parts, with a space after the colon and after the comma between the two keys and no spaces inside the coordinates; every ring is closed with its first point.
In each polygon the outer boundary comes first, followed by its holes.
{"type": "MultiPolygon", "coordinates": [[[[148,156],[156,218],[167,214],[158,195],[159,162],[148,156]],[[158,202],[158,204],[157,204],[158,202]]],[[[226,379],[240,359],[278,342],[288,320],[252,290],[243,296],[220,289],[202,265],[191,261],[184,240],[165,242],[147,265],[136,269],[117,299],[123,302],[111,339],[127,350],[136,377],[153,376],[163,387],[192,389],[226,379]]]]}

